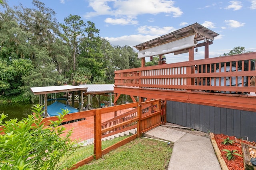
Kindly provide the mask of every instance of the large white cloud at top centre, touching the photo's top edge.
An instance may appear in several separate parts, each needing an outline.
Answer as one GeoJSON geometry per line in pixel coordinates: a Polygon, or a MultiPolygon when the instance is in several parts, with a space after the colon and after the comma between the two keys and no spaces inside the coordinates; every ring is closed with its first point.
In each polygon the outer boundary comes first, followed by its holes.
{"type": "MultiPolygon", "coordinates": [[[[179,17],[183,14],[180,8],[174,6],[172,0],[89,0],[89,6],[94,12],[86,13],[85,18],[110,15],[133,20],[142,14],[166,13],[172,14],[173,17],[179,17]]],[[[116,22],[113,23],[116,24],[116,22]]]]}

